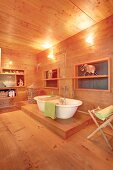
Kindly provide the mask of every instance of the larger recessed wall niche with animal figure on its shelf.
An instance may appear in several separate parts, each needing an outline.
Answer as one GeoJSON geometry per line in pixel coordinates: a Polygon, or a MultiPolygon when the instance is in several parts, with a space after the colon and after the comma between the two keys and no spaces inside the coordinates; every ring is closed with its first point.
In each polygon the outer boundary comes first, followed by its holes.
{"type": "Polygon", "coordinates": [[[75,65],[75,89],[110,90],[110,59],[75,65]]]}

